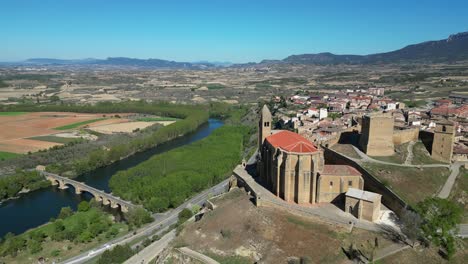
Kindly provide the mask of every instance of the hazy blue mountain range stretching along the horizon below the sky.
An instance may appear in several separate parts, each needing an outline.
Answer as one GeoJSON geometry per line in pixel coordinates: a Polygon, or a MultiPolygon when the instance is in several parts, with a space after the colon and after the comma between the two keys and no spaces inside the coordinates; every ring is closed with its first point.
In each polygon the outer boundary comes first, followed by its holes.
{"type": "Polygon", "coordinates": [[[450,63],[468,60],[468,32],[450,35],[447,39],[409,45],[402,49],[369,55],[337,55],[329,52],[291,55],[283,60],[263,60],[260,63],[232,64],[230,62],[177,62],[161,59],[111,57],[107,59],[61,60],[34,58],[2,65],[96,65],[165,69],[206,69],[215,67],[252,67],[273,64],[385,64],[385,63],[450,63]]]}

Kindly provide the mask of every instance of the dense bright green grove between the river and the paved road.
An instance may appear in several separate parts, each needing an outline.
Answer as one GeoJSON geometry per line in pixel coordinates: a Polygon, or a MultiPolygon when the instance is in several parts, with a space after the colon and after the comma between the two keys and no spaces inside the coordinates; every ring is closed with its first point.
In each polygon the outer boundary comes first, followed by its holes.
{"type": "Polygon", "coordinates": [[[177,207],[225,179],[240,161],[247,134],[244,126],[221,127],[205,139],[115,174],[109,186],[114,194],[154,212],[177,207]]]}

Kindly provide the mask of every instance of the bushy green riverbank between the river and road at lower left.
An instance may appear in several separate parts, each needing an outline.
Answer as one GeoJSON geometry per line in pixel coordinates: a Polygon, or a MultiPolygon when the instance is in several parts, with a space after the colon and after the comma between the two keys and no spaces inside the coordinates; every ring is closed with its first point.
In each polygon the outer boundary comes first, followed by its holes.
{"type": "Polygon", "coordinates": [[[0,260],[5,263],[31,263],[41,258],[59,262],[95,247],[102,241],[128,233],[125,223],[115,222],[111,215],[86,204],[78,212],[62,210],[59,217],[40,227],[18,235],[5,236],[0,245],[0,260]],[[63,215],[68,212],[69,215],[63,215]]]}

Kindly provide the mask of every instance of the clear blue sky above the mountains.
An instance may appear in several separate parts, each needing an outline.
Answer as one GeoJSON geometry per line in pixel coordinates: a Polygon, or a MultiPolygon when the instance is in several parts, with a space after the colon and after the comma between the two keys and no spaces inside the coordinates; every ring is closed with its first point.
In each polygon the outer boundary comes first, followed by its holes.
{"type": "Polygon", "coordinates": [[[463,31],[466,0],[2,0],[0,61],[249,62],[385,52],[463,31]]]}

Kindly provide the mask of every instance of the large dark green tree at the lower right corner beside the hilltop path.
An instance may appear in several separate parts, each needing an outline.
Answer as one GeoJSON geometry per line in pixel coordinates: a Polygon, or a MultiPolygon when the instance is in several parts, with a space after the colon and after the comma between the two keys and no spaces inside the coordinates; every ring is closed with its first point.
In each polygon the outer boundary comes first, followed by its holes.
{"type": "Polygon", "coordinates": [[[446,250],[450,259],[455,253],[454,236],[463,217],[463,210],[454,202],[438,197],[427,198],[416,206],[423,222],[424,237],[446,250]]]}

